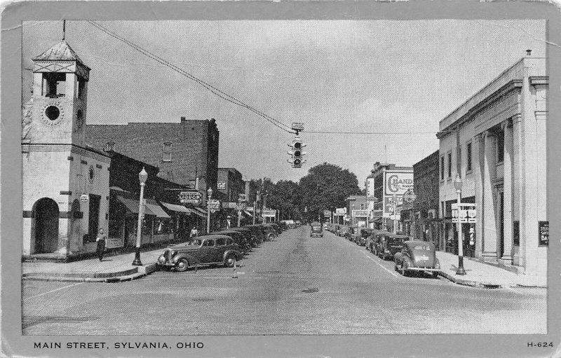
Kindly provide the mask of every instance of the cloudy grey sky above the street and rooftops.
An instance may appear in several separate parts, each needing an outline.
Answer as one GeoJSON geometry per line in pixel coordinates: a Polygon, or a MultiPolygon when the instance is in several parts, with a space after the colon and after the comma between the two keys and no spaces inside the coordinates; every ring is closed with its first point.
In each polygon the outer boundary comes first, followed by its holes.
{"type": "MultiPolygon", "coordinates": [[[[296,169],[286,153],[294,135],[88,22],[67,21],[67,42],[91,68],[86,123],[215,118],[219,167],[244,180],[298,181],[327,162],[364,187],[373,163],[412,166],[438,150],[438,122],[527,49],[546,57],[544,20],[99,23],[286,125],[304,123],[306,163],[296,169]]],[[[24,101],[31,58],[60,39],[62,21],[24,22],[24,101]]]]}

